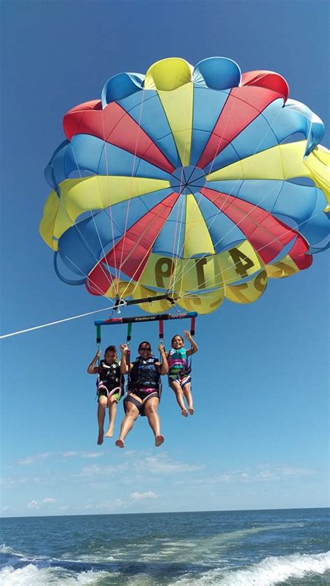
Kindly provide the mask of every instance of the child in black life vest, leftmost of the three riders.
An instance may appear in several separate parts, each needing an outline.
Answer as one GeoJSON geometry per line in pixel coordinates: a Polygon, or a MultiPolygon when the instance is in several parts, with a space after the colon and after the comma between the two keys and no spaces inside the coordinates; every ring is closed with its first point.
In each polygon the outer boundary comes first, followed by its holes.
{"type": "Polygon", "coordinates": [[[104,418],[105,410],[109,408],[109,427],[105,433],[106,438],[113,436],[113,427],[116,420],[117,403],[123,397],[123,375],[120,372],[120,363],[117,359],[115,346],[108,346],[104,352],[104,359],[100,365],[96,363],[101,356],[100,350],[97,351],[91,364],[88,366],[88,374],[98,374],[97,377],[97,423],[99,433],[97,436],[97,445],[102,445],[104,436],[104,418]]]}

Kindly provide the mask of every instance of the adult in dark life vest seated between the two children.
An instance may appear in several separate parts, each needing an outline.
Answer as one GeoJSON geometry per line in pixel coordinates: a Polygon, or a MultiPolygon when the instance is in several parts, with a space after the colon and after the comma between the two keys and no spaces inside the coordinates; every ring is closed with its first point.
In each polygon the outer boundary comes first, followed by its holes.
{"type": "Polygon", "coordinates": [[[128,389],[124,399],[125,417],[120,426],[120,435],[116,440],[118,448],[124,448],[125,437],[132,429],[139,415],[146,415],[148,423],[155,436],[155,446],[164,442],[160,433],[160,422],[157,408],[161,395],[161,374],[168,373],[168,364],[164,345],[159,344],[161,362],[153,356],[149,342],[141,342],[139,356],[133,363],[127,363],[129,348],[126,344],[120,345],[122,357],[120,372],[128,374],[128,389]]]}

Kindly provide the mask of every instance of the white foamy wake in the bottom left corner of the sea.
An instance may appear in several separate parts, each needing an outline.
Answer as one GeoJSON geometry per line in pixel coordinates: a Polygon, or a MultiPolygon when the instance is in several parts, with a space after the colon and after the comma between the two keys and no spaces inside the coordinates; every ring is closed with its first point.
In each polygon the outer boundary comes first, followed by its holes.
{"type": "MultiPolygon", "coordinates": [[[[8,566],[0,572],[1,586],[47,586],[51,584],[77,586],[94,585],[97,582],[110,578],[113,574],[109,572],[86,571],[72,573],[64,571],[63,568],[42,568],[38,569],[33,564],[24,568],[14,569],[8,566]]],[[[111,579],[111,578],[110,578],[111,579]]]]}

